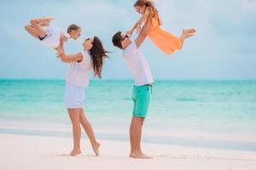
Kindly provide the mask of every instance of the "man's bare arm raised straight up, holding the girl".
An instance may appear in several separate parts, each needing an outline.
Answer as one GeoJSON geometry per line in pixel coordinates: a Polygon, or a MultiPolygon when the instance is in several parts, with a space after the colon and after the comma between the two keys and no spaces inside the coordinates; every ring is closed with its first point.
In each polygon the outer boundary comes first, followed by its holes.
{"type": "Polygon", "coordinates": [[[150,12],[148,14],[147,22],[143,26],[142,31],[140,31],[138,37],[135,40],[137,48],[139,48],[142,45],[142,43],[144,42],[145,38],[148,36],[148,31],[149,31],[150,21],[152,19],[152,16],[153,16],[153,12],[150,10],[150,12]]]}

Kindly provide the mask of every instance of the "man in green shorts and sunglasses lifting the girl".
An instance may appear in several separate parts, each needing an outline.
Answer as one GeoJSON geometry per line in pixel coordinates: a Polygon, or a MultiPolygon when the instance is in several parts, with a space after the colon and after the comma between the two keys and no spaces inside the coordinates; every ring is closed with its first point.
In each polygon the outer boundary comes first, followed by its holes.
{"type": "Polygon", "coordinates": [[[130,157],[133,158],[151,158],[143,154],[141,150],[141,137],[143,122],[148,113],[148,106],[152,94],[152,84],[154,82],[147,60],[139,50],[145,38],[148,35],[152,12],[148,14],[143,29],[140,31],[135,42],[131,42],[128,35],[121,31],[113,36],[113,45],[123,50],[123,58],[125,64],[131,70],[131,74],[135,80],[132,92],[134,101],[133,116],[131,118],[130,127],[130,157]]]}

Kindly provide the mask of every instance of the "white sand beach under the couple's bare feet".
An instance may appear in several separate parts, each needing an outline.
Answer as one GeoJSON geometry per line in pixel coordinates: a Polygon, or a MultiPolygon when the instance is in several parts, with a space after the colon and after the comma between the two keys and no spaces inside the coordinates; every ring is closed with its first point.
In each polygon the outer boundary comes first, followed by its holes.
{"type": "Polygon", "coordinates": [[[128,157],[128,142],[101,140],[101,156],[94,156],[89,141],[83,139],[83,153],[73,157],[67,156],[72,142],[71,138],[0,134],[0,169],[254,170],[256,167],[256,153],[253,151],[143,143],[144,152],[154,158],[137,160],[128,157]]]}

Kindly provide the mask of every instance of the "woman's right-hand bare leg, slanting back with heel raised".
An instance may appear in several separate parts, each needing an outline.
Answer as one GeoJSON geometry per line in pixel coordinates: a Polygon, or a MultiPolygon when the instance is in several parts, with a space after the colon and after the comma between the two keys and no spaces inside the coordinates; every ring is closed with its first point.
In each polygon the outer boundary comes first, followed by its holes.
{"type": "Polygon", "coordinates": [[[79,112],[80,112],[79,113],[79,121],[80,121],[81,125],[84,127],[84,131],[85,131],[85,133],[87,133],[87,135],[90,139],[90,144],[92,146],[92,149],[94,150],[96,156],[99,156],[99,154],[100,154],[99,148],[100,148],[101,144],[96,141],[93,129],[90,125],[90,122],[84,116],[84,109],[80,109],[79,112]]]}

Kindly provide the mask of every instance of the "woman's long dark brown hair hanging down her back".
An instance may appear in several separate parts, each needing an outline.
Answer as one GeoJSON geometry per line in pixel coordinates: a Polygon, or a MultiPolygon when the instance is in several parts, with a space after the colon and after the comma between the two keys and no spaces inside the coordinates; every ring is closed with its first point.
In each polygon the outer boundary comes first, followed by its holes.
{"type": "Polygon", "coordinates": [[[89,50],[90,59],[92,60],[94,77],[102,79],[102,67],[104,59],[108,58],[108,51],[103,48],[102,41],[99,37],[94,37],[92,48],[89,50]]]}

